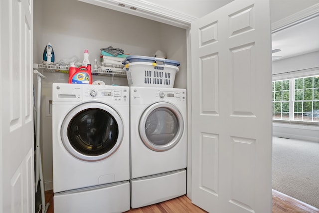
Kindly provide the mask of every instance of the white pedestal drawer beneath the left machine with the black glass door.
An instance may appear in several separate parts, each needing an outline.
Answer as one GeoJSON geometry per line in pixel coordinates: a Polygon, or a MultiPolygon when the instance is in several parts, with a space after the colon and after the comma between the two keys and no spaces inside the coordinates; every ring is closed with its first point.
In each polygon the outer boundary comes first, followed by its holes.
{"type": "Polygon", "coordinates": [[[129,181],[54,194],[54,213],[123,213],[130,210],[129,181]]]}

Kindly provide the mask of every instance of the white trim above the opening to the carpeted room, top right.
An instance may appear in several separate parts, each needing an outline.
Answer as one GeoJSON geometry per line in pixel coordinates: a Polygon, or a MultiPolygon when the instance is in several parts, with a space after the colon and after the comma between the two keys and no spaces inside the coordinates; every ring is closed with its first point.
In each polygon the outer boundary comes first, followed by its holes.
{"type": "Polygon", "coordinates": [[[279,21],[271,24],[272,33],[286,29],[295,24],[309,20],[311,18],[319,16],[319,3],[314,4],[306,9],[303,9],[295,14],[289,15],[279,21]]]}

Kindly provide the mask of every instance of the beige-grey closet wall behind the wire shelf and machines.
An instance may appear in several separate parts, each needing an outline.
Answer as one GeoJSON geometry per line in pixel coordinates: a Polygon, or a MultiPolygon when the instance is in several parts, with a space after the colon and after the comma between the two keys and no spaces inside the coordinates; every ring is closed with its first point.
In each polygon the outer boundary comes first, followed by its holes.
{"type": "MultiPolygon", "coordinates": [[[[166,52],[167,58],[181,63],[175,88],[186,88],[186,30],[157,21],[91,5],[77,0],[34,0],[34,63],[41,63],[50,42],[55,62],[77,56],[83,60],[88,49],[90,62],[100,56],[100,48],[113,46],[132,55],[166,52]]],[[[41,149],[45,190],[53,188],[52,117],[48,113],[53,82],[67,83],[64,73],[44,72],[41,102],[41,149]]],[[[128,85],[126,77],[93,76],[93,81],[128,85]]],[[[34,81],[36,84],[36,80],[34,81]]],[[[36,87],[36,85],[35,85],[36,87]]]]}

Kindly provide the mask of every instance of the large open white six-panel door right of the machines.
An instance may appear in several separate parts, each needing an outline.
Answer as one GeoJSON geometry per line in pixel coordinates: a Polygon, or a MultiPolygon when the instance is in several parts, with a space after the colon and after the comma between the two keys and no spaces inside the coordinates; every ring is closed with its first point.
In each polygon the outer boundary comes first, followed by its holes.
{"type": "Polygon", "coordinates": [[[191,24],[192,202],[271,213],[269,0],[235,0],[191,24]]]}

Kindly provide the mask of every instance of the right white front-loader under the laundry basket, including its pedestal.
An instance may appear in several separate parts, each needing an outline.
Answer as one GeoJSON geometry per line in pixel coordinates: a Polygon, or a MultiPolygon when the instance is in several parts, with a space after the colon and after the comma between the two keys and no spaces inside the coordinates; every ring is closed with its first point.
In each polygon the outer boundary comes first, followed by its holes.
{"type": "Polygon", "coordinates": [[[186,90],[130,87],[131,205],[186,193],[186,90]]]}

